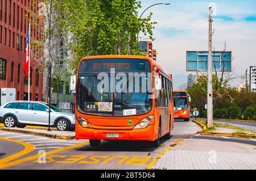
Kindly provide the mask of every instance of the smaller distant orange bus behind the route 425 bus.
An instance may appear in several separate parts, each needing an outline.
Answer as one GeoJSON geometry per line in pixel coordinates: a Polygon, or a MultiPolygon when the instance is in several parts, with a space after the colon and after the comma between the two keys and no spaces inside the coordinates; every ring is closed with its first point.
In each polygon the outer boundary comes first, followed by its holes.
{"type": "Polygon", "coordinates": [[[174,91],[174,119],[189,121],[190,117],[190,96],[187,91],[174,91]]]}

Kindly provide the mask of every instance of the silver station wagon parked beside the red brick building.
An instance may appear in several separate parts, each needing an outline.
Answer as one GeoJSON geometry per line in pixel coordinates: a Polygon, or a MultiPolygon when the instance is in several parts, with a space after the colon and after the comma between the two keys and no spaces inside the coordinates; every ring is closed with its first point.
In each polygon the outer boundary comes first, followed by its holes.
{"type": "Polygon", "coordinates": [[[59,131],[75,129],[75,114],[61,112],[55,106],[44,102],[35,101],[13,101],[3,104],[0,107],[0,123],[5,127],[24,128],[26,125],[47,126],[51,111],[51,127],[56,127],[59,131]]]}

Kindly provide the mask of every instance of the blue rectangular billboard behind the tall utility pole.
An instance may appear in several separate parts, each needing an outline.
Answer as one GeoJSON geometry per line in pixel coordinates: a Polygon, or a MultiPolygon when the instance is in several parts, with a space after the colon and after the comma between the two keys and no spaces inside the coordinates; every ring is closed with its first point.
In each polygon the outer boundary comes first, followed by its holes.
{"type": "MultiPolygon", "coordinates": [[[[209,52],[187,51],[187,71],[207,71],[209,52]]],[[[212,52],[213,71],[232,71],[232,52],[212,52]]]]}

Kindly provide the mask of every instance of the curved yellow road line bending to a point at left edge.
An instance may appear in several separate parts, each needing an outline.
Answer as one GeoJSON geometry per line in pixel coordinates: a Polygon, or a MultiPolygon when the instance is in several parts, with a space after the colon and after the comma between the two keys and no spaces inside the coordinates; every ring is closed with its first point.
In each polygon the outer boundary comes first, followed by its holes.
{"type": "Polygon", "coordinates": [[[35,149],[34,145],[28,144],[26,142],[22,142],[22,141],[18,141],[18,140],[13,140],[10,138],[3,138],[0,137],[0,140],[5,140],[5,141],[10,141],[10,142],[15,142],[17,144],[23,145],[24,149],[22,151],[19,151],[18,153],[15,153],[13,155],[10,155],[9,157],[0,159],[0,168],[2,167],[3,164],[12,161],[13,159],[19,158],[25,154],[30,153],[31,151],[33,151],[35,149]]]}

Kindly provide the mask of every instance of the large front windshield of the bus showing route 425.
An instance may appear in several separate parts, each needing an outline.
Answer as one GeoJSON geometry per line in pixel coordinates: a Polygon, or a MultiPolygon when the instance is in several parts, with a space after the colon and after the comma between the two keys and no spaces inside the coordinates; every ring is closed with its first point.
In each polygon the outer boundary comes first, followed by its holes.
{"type": "Polygon", "coordinates": [[[152,99],[148,95],[152,85],[147,73],[150,71],[147,60],[86,60],[80,65],[77,79],[77,109],[98,116],[129,116],[149,112],[152,99]],[[114,74],[110,74],[111,68],[115,69],[114,74]],[[86,73],[84,69],[88,69],[86,73]],[[104,78],[101,76],[103,72],[106,76],[104,78]],[[122,78],[117,78],[120,73],[122,78]],[[134,73],[139,73],[139,82],[134,73]]]}

